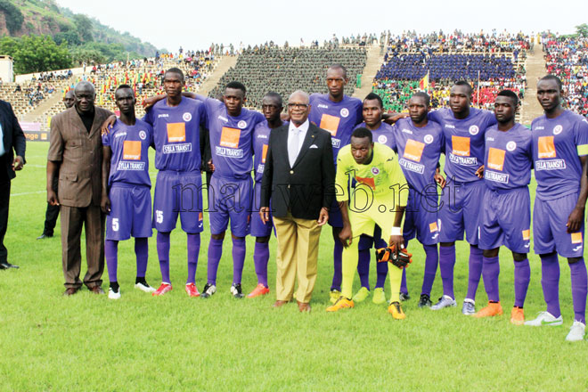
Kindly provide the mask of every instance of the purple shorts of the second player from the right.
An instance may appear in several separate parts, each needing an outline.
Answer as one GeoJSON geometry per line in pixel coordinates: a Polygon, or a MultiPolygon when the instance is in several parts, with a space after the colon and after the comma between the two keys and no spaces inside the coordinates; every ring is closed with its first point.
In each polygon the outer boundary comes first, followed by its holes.
{"type": "Polygon", "coordinates": [[[508,191],[486,189],[480,217],[480,249],[505,245],[517,253],[528,253],[531,227],[531,198],[527,186],[508,191]]]}

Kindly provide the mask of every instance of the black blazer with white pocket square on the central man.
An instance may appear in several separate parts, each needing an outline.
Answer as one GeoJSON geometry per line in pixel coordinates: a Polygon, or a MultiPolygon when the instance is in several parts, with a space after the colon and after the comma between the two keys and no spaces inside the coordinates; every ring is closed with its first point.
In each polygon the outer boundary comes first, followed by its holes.
{"type": "Polygon", "coordinates": [[[335,165],[331,134],[310,124],[294,167],[288,159],[288,125],[270,133],[264,176],[261,182],[261,207],[269,207],[276,217],[288,210],[300,219],[317,219],[321,208],[331,208],[334,196],[335,165]]]}

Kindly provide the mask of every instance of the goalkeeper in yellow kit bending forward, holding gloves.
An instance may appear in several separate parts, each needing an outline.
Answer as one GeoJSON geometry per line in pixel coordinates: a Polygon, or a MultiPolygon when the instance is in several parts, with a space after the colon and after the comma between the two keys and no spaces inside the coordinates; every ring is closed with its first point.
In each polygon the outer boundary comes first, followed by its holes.
{"type": "MultiPolygon", "coordinates": [[[[372,235],[374,225],[380,225],[382,237],[389,235],[388,244],[403,247],[401,232],[408,185],[398,165],[396,153],[388,146],[373,143],[372,132],[356,128],[351,143],[337,157],[337,201],[343,216],[339,240],[343,243],[343,283],[341,297],[327,312],[353,307],[353,280],[357,269],[357,243],[361,234],[372,235]]],[[[392,297],[388,312],[395,319],[404,319],[399,292],[402,269],[388,263],[392,297]]]]}

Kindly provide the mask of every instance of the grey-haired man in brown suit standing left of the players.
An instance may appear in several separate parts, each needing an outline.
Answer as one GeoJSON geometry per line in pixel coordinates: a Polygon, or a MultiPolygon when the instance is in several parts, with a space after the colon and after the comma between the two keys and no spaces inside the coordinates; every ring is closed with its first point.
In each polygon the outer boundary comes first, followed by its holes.
{"type": "Polygon", "coordinates": [[[61,206],[61,260],[65,277],[64,295],[82,286],[79,240],[86,227],[87,272],[84,284],[103,294],[104,215],[100,208],[102,139],[100,127],[112,113],[94,106],[94,85],[82,81],[74,89],[74,107],[51,121],[51,145],[47,156],[47,202],[61,206]],[[53,178],[59,176],[58,192],[53,178]],[[59,194],[59,199],[57,197],[59,194]]]}

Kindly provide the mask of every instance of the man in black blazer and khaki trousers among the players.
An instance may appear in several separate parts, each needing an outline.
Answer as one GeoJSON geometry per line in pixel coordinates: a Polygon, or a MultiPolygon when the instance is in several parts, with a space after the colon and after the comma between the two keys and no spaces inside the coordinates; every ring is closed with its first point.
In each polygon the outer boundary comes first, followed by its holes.
{"type": "Polygon", "coordinates": [[[300,312],[310,311],[321,227],[329,220],[335,183],[331,134],[310,124],[309,112],[308,94],[292,93],[290,125],[270,134],[259,210],[266,224],[271,200],[279,252],[274,307],[292,299],[298,273],[300,312]]]}

